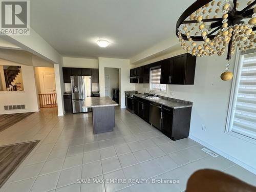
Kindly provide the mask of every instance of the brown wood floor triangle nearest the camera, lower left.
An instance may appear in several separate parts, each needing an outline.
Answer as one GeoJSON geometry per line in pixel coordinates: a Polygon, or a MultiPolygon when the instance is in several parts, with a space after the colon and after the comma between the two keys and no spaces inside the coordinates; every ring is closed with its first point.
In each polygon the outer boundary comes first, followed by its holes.
{"type": "Polygon", "coordinates": [[[18,143],[0,147],[0,187],[29,155],[39,141],[18,143]]]}

